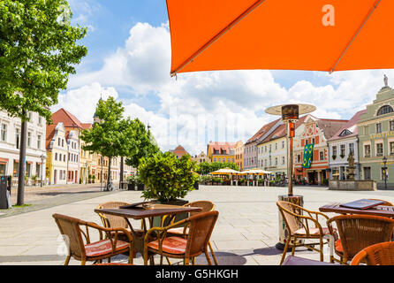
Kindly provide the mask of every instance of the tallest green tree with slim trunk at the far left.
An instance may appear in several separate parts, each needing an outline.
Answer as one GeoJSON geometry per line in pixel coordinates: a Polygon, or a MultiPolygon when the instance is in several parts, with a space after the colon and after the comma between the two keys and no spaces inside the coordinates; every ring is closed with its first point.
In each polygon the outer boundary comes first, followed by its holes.
{"type": "Polygon", "coordinates": [[[0,1],[0,109],[22,120],[19,205],[24,204],[28,112],[50,122],[49,107],[87,55],[77,44],[87,28],[72,27],[71,17],[65,0],[0,1]]]}

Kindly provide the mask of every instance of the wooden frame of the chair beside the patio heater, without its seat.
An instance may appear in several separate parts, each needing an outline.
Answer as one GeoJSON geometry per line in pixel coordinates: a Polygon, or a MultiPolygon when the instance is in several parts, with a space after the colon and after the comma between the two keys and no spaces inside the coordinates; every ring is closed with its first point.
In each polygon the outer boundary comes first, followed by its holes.
{"type": "MultiPolygon", "coordinates": [[[[323,233],[322,226],[319,223],[319,216],[324,218],[326,221],[330,219],[327,215],[323,214],[322,212],[319,211],[313,211],[313,210],[307,210],[297,204],[294,203],[289,203],[289,202],[277,202],[277,207],[279,208],[280,213],[282,214],[282,217],[284,218],[284,222],[287,226],[287,230],[289,232],[289,235],[286,239],[286,243],[284,246],[284,253],[282,255],[282,259],[280,262],[280,265],[284,263],[284,258],[287,253],[287,249],[289,249],[290,242],[293,241],[292,244],[292,256],[294,256],[295,248],[297,247],[306,247],[307,249],[312,249],[314,251],[317,251],[320,253],[320,261],[322,262],[324,260],[324,255],[323,255],[323,245],[326,243],[329,243],[329,241],[324,241],[325,236],[327,233],[323,233]],[[306,212],[307,216],[295,213],[291,210],[287,210],[284,208],[283,204],[286,203],[287,205],[291,206],[294,210],[299,210],[300,213],[306,212]],[[303,234],[296,234],[295,231],[293,230],[293,227],[289,224],[287,221],[287,218],[285,214],[290,215],[292,218],[296,219],[296,222],[299,224],[300,227],[304,228],[305,233],[303,234]],[[310,233],[310,227],[311,225],[314,228],[319,229],[319,233],[310,233]],[[316,239],[319,240],[319,242],[314,242],[314,243],[297,243],[297,240],[308,240],[308,239],[316,239]],[[315,245],[319,245],[320,249],[314,248],[315,245]]],[[[337,237],[336,233],[330,233],[334,238],[337,237]]]]}

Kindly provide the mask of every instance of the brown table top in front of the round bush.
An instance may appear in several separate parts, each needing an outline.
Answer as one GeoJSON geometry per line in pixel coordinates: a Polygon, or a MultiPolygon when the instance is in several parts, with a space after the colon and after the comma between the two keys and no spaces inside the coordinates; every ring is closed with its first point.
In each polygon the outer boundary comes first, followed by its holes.
{"type": "Polygon", "coordinates": [[[186,212],[200,212],[201,207],[184,207],[168,204],[153,204],[152,209],[145,209],[139,206],[118,209],[95,209],[95,212],[116,215],[124,218],[142,219],[156,216],[173,215],[186,212]]]}

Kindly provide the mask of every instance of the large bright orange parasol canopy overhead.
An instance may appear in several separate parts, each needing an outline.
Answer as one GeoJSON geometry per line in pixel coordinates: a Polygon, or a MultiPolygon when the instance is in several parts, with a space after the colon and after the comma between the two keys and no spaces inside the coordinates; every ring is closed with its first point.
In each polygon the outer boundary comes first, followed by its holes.
{"type": "Polygon", "coordinates": [[[171,74],[394,66],[392,0],[167,0],[171,74]]]}

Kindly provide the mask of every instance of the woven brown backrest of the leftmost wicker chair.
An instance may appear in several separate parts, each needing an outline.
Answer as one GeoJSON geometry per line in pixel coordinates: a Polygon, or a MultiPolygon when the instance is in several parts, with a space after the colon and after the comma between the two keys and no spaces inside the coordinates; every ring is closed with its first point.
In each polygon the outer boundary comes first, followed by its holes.
{"type": "Polygon", "coordinates": [[[52,217],[55,218],[60,233],[67,237],[65,240],[68,241],[71,255],[78,258],[86,257],[85,243],[80,230],[80,225],[85,225],[86,222],[57,213],[52,217]]]}

